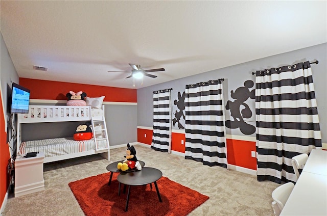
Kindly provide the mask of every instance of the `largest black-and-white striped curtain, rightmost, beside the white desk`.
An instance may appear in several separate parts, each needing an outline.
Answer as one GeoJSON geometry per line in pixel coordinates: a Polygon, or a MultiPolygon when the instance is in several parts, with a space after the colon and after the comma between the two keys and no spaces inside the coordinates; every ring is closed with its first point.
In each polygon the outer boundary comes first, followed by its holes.
{"type": "Polygon", "coordinates": [[[256,71],[259,181],[296,182],[291,158],[321,147],[310,62],[256,71]]]}

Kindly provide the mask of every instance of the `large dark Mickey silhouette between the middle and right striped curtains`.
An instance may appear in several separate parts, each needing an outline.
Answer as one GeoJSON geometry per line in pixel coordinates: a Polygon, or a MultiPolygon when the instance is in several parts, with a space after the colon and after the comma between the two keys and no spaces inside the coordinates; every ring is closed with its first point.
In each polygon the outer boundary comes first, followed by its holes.
{"type": "Polygon", "coordinates": [[[230,91],[230,97],[235,99],[235,101],[227,101],[226,110],[230,110],[230,116],[233,117],[234,121],[227,120],[226,127],[234,129],[240,128],[241,132],[249,135],[255,132],[255,127],[244,121],[243,118],[251,118],[252,112],[250,107],[245,103],[248,98],[255,98],[255,89],[250,91],[254,85],[252,80],[247,80],[244,82],[244,87],[236,89],[235,92],[230,91]],[[241,108],[243,109],[241,110],[241,108]]]}

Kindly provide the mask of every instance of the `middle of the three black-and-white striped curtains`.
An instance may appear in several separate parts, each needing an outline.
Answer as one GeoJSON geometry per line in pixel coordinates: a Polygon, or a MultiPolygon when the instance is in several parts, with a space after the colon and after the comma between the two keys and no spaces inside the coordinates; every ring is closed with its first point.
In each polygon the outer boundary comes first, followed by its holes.
{"type": "Polygon", "coordinates": [[[223,79],[186,85],[185,159],[227,168],[223,79]]]}

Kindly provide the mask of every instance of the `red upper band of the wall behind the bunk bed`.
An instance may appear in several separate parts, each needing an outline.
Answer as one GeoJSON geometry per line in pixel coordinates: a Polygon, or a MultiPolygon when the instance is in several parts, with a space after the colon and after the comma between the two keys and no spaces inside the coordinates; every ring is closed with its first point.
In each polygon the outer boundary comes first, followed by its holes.
{"type": "Polygon", "coordinates": [[[106,96],[104,101],[137,102],[137,90],[40,79],[19,78],[19,85],[31,92],[31,99],[67,100],[69,91],[83,91],[88,97],[106,96]]]}

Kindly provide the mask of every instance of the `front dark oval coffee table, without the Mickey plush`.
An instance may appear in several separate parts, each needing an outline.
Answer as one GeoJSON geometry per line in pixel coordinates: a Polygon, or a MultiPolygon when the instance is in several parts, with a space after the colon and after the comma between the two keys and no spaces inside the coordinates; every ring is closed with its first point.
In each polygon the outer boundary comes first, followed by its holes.
{"type": "Polygon", "coordinates": [[[159,201],[162,202],[156,182],[158,179],[161,178],[161,176],[162,172],[152,167],[144,167],[142,168],[142,170],[130,173],[120,173],[117,176],[117,180],[119,181],[119,190],[121,188],[121,183],[128,185],[125,211],[128,210],[129,192],[131,186],[146,185],[151,184],[153,182],[155,185],[155,190],[157,191],[159,201]]]}

